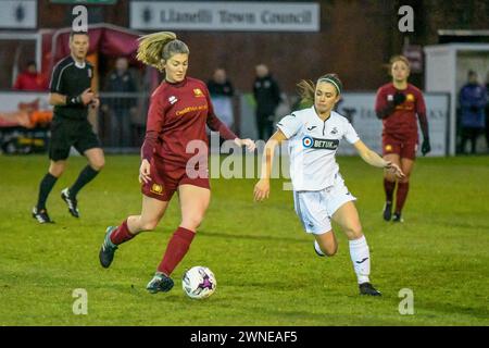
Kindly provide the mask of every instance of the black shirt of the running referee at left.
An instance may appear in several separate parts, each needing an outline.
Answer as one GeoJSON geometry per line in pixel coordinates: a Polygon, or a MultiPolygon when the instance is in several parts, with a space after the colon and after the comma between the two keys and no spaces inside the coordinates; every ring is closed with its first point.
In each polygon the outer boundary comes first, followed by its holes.
{"type": "MultiPolygon", "coordinates": [[[[54,94],[77,97],[85,89],[90,88],[92,77],[93,66],[91,64],[85,62],[82,66],[68,55],[54,66],[49,88],[54,94]]],[[[54,115],[63,119],[83,120],[88,115],[88,108],[85,105],[57,105],[54,107],[54,115]]]]}

